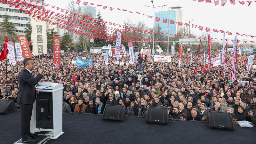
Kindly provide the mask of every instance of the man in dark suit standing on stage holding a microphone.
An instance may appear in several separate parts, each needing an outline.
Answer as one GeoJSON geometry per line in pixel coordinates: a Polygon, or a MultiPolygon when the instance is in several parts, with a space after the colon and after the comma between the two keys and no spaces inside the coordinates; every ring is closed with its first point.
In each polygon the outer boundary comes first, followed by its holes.
{"type": "Polygon", "coordinates": [[[33,103],[36,100],[36,94],[39,93],[36,90],[35,85],[43,77],[43,69],[38,69],[36,78],[32,75],[32,70],[35,68],[33,59],[27,58],[23,60],[24,69],[19,76],[19,92],[18,103],[21,111],[21,135],[22,143],[29,143],[37,141],[34,139],[37,134],[30,132],[30,120],[32,116],[33,103]]]}

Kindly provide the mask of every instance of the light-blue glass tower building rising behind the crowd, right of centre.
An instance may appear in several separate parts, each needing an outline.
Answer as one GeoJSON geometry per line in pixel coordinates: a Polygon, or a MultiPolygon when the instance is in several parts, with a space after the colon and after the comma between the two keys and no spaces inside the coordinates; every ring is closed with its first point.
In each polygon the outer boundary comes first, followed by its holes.
{"type": "Polygon", "coordinates": [[[168,22],[163,23],[163,19],[169,19],[174,20],[175,24],[169,24],[169,34],[177,34],[177,32],[182,28],[182,26],[178,26],[178,23],[176,22],[182,22],[182,10],[180,10],[182,7],[170,7],[171,10],[168,11],[162,11],[162,12],[155,12],[155,17],[160,18],[159,21],[155,21],[156,26],[159,24],[159,26],[162,28],[162,31],[164,33],[167,33],[168,28],[168,22]]]}

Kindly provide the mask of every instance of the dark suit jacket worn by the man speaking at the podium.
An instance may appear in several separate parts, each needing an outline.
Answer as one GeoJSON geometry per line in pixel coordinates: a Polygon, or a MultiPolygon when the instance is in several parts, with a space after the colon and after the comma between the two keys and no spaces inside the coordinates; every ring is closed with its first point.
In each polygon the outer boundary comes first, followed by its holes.
{"type": "Polygon", "coordinates": [[[17,102],[20,104],[33,104],[36,100],[36,87],[35,85],[43,75],[38,74],[34,79],[32,74],[24,68],[19,76],[19,92],[17,102]]]}

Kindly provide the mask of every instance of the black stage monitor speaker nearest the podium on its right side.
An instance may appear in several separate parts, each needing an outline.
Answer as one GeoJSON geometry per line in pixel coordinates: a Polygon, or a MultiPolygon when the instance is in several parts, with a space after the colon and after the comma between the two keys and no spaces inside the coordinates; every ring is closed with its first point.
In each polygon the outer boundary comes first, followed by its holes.
{"type": "Polygon", "coordinates": [[[103,120],[124,121],[125,106],[106,105],[103,111],[103,120]]]}

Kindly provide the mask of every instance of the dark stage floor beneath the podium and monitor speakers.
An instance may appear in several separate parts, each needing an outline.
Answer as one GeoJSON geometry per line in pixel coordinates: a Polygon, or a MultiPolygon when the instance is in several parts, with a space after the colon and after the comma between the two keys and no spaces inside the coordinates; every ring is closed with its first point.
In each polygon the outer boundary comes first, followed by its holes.
{"type": "MultiPolygon", "coordinates": [[[[18,109],[19,110],[19,109],[18,109]]],[[[20,139],[20,112],[0,115],[1,144],[20,139]]],[[[235,129],[209,129],[206,122],[175,120],[174,123],[146,123],[146,118],[126,116],[124,121],[103,121],[102,115],[63,113],[63,134],[47,144],[143,144],[143,143],[255,143],[255,127],[235,124],[235,129]]]]}

